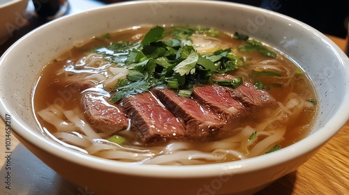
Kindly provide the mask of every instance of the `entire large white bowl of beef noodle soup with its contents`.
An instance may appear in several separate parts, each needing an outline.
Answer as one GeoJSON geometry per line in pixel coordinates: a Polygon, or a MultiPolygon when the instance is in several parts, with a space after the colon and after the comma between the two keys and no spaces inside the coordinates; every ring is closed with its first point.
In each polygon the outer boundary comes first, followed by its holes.
{"type": "Polygon", "coordinates": [[[346,123],[346,63],[315,29],[260,8],[117,3],[10,47],[1,116],[96,194],[251,194],[346,123]]]}

